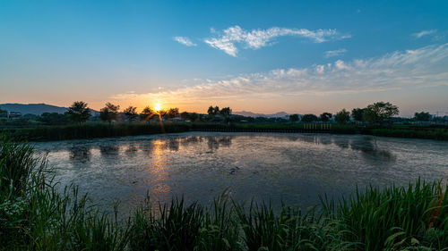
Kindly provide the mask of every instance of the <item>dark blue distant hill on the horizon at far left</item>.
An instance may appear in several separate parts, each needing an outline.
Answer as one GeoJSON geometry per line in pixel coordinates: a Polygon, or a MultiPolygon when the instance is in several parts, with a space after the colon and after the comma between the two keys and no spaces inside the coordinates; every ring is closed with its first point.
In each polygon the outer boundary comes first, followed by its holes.
{"type": "MultiPolygon", "coordinates": [[[[22,113],[23,115],[28,113],[40,115],[42,113],[67,112],[67,108],[65,107],[47,104],[0,104],[0,108],[8,112],[22,113]]],[[[90,112],[92,115],[98,114],[95,110],[90,109],[90,112]]]]}

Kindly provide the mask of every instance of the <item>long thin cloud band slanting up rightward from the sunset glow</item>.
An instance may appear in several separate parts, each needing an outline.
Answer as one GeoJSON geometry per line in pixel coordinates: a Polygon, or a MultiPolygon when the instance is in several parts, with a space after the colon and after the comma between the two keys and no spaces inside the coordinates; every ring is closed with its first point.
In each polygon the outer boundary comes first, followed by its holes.
{"type": "Polygon", "coordinates": [[[159,100],[163,104],[208,105],[213,101],[260,100],[286,96],[360,93],[448,85],[448,44],[384,54],[350,62],[276,69],[227,79],[194,80],[189,86],[117,100],[159,100]]]}

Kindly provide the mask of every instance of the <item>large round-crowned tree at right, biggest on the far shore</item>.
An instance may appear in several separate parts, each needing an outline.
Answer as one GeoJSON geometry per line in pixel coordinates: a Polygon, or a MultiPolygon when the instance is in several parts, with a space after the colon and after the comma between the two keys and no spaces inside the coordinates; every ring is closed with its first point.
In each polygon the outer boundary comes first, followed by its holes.
{"type": "Polygon", "coordinates": [[[399,110],[396,105],[389,102],[376,102],[373,105],[367,105],[363,112],[363,119],[370,122],[390,121],[393,115],[398,115],[399,110]]]}

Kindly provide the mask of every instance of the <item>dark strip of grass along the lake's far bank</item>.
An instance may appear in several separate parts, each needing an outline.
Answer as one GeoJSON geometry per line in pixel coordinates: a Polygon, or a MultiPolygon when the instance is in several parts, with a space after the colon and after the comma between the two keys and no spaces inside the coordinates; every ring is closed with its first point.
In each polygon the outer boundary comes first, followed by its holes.
{"type": "Polygon", "coordinates": [[[107,138],[135,136],[156,133],[184,132],[189,130],[222,131],[283,131],[283,132],[329,132],[335,134],[366,134],[397,138],[429,138],[448,140],[445,125],[379,125],[320,124],[320,123],[212,123],[174,122],[159,123],[102,123],[91,122],[82,125],[38,126],[31,128],[4,129],[15,140],[50,141],[78,138],[107,138]]]}

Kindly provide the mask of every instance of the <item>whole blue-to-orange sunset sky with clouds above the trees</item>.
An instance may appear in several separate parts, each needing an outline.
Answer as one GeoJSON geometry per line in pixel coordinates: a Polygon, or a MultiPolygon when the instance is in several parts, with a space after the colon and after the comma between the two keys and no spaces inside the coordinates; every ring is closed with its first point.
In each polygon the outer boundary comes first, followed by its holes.
{"type": "Polygon", "coordinates": [[[448,114],[448,1],[0,1],[0,103],[448,114]]]}

